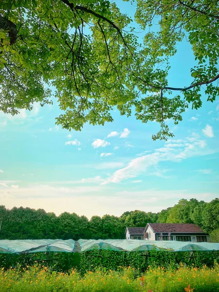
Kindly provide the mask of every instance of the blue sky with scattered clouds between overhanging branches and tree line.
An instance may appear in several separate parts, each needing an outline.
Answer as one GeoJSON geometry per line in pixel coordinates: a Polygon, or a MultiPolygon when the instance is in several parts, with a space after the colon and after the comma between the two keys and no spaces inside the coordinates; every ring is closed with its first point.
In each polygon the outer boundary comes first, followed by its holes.
{"type": "MultiPolygon", "coordinates": [[[[133,13],[127,2],[117,1],[133,13]]],[[[192,51],[186,42],[171,58],[169,86],[188,86],[192,51]]],[[[159,124],[142,124],[113,112],[113,123],[81,132],[55,126],[58,105],[15,117],[0,113],[0,204],[60,214],[120,216],[158,212],[182,198],[219,197],[219,102],[189,108],[183,122],[168,125],[175,137],[152,141],[159,124]]]]}

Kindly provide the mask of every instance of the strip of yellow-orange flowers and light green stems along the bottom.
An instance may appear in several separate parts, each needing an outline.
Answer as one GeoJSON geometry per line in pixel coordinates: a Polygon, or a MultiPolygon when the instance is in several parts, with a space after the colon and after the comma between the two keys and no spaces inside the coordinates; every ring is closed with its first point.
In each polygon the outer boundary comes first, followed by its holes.
{"type": "Polygon", "coordinates": [[[150,268],[144,275],[131,267],[118,271],[96,270],[81,276],[75,270],[68,273],[50,271],[42,263],[37,266],[10,268],[0,271],[0,292],[217,292],[219,265],[213,268],[165,270],[150,268]]]}

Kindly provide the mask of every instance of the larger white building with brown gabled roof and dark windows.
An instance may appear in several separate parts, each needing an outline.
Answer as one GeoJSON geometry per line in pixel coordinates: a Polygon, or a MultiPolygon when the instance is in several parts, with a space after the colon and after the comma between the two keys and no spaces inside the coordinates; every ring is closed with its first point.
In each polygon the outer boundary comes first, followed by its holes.
{"type": "Polygon", "coordinates": [[[209,236],[196,224],[147,223],[144,239],[207,242],[209,236]]]}

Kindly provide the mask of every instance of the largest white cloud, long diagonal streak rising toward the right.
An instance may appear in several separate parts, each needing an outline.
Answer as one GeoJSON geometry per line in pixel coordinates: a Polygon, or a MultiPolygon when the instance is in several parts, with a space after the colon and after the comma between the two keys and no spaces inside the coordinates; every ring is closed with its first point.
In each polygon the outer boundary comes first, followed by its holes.
{"type": "Polygon", "coordinates": [[[169,147],[169,144],[167,144],[164,145],[163,148],[156,149],[154,153],[132,159],[126,167],[116,170],[101,184],[119,183],[126,179],[135,178],[142,172],[147,172],[148,175],[164,177],[161,171],[156,170],[153,172],[151,169],[157,167],[162,161],[181,162],[193,156],[212,153],[214,153],[214,151],[207,148],[205,140],[197,140],[193,143],[184,141],[183,149],[181,147],[169,147]]]}

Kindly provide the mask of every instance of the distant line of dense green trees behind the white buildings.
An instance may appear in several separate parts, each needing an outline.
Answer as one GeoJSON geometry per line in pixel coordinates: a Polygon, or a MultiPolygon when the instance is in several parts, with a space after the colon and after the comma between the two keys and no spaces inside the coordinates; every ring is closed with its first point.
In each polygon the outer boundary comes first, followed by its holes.
{"type": "Polygon", "coordinates": [[[219,199],[210,202],[180,200],[158,213],[140,210],[113,215],[78,216],[64,212],[59,216],[43,209],[0,205],[0,239],[124,239],[126,227],[145,227],[147,223],[195,223],[219,241],[219,199]]]}

